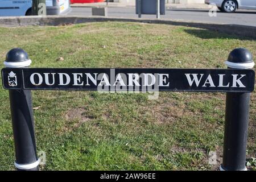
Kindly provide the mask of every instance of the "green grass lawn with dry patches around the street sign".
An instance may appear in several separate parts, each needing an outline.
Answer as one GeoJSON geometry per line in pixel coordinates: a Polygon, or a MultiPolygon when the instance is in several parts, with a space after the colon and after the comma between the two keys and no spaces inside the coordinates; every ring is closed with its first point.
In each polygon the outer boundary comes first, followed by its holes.
{"type": "MultiPolygon", "coordinates": [[[[234,48],[256,56],[253,39],[164,24],[0,28],[0,40],[1,68],[14,47],[28,52],[31,67],[56,68],[226,68],[234,48]]],[[[13,170],[9,94],[0,87],[0,170],[13,170]]],[[[158,100],[148,100],[148,94],[33,91],[32,97],[37,148],[46,152],[44,170],[214,170],[220,165],[224,93],[161,92],[158,100]],[[209,151],[217,152],[216,165],[208,163],[209,151]]],[[[255,92],[249,125],[250,159],[256,155],[255,92]]]]}

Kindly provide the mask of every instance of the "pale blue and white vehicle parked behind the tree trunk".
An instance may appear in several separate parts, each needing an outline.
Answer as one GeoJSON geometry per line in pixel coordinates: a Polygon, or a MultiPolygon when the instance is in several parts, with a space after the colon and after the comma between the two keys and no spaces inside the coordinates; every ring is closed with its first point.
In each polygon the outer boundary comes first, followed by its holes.
{"type": "MultiPolygon", "coordinates": [[[[32,15],[32,0],[0,0],[0,16],[32,15]]],[[[58,15],[67,13],[69,0],[46,0],[46,14],[58,15]]]]}

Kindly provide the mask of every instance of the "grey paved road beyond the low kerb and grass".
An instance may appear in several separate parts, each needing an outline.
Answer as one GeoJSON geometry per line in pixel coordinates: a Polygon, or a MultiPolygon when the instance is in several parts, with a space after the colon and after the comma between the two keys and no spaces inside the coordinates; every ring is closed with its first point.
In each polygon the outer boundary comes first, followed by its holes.
{"type": "MultiPolygon", "coordinates": [[[[91,16],[91,7],[72,7],[69,15],[91,16]]],[[[109,7],[108,15],[112,17],[137,18],[134,7],[109,7]]],[[[142,18],[155,18],[155,15],[142,15],[142,18]]],[[[209,16],[209,10],[203,9],[167,9],[166,15],[162,15],[161,19],[183,19],[183,20],[199,20],[203,22],[217,22],[228,24],[241,24],[247,26],[256,26],[256,11],[238,10],[236,13],[228,14],[217,11],[216,17],[209,16]]]]}

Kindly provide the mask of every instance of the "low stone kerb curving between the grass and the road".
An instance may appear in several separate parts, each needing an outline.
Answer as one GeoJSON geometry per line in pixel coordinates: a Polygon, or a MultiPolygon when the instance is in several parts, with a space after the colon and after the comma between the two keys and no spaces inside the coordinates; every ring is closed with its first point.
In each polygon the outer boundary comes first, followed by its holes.
{"type": "Polygon", "coordinates": [[[78,24],[89,22],[138,22],[138,23],[156,23],[170,24],[174,26],[205,28],[212,31],[224,32],[256,38],[256,27],[241,26],[236,24],[195,22],[176,19],[145,19],[145,18],[112,18],[102,16],[5,16],[0,17],[0,27],[20,27],[20,26],[60,26],[63,24],[78,24]]]}

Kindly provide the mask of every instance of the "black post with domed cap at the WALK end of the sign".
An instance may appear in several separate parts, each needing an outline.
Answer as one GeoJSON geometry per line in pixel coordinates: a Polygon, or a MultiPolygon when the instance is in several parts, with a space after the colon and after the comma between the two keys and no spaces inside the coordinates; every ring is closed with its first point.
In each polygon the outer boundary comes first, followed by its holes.
{"type": "MultiPolygon", "coordinates": [[[[253,56],[245,48],[230,52],[225,62],[228,68],[250,69],[253,56]]],[[[238,78],[238,77],[237,77],[238,78]]],[[[249,122],[250,93],[227,93],[221,171],[246,171],[246,145],[249,122]]]]}

